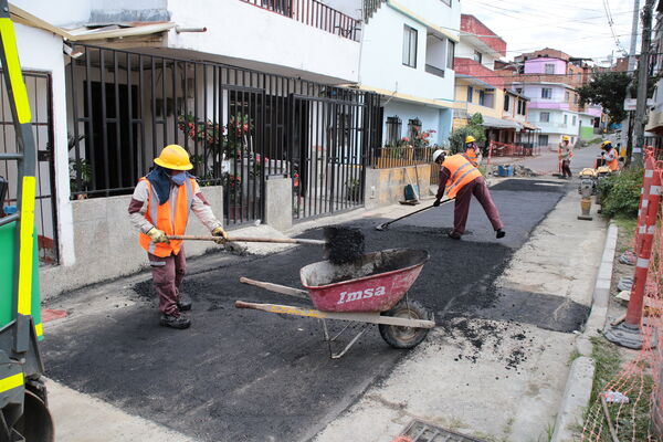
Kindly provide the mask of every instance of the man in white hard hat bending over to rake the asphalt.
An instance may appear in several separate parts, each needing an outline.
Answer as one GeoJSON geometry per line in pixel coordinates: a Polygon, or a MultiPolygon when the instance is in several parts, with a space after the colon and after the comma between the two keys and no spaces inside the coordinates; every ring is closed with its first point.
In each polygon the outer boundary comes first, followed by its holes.
{"type": "Polygon", "coordinates": [[[499,219],[499,212],[493,202],[486,180],[467,157],[464,154],[445,157],[444,150],[438,149],[433,152],[433,161],[440,165],[440,186],[433,206],[440,206],[445,190],[448,198],[455,198],[453,230],[449,232],[449,236],[460,240],[465,233],[470,202],[474,196],[491,220],[495,236],[504,238],[506,234],[504,224],[499,219]]]}

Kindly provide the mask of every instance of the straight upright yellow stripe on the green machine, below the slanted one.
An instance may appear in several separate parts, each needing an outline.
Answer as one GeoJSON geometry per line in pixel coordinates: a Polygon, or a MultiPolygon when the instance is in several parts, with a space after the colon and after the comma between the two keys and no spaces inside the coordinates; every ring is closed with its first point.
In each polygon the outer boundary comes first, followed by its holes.
{"type": "Polygon", "coordinates": [[[18,313],[29,316],[32,312],[32,265],[34,260],[34,177],[23,177],[21,196],[21,239],[19,250],[19,302],[18,313]]]}

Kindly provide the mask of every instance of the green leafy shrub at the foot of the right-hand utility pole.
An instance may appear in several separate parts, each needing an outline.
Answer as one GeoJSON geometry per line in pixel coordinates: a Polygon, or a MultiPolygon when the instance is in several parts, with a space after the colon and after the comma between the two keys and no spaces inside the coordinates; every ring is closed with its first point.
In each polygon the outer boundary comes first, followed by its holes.
{"type": "Polygon", "coordinates": [[[601,181],[602,213],[610,218],[638,217],[643,176],[642,168],[629,168],[601,181]]]}

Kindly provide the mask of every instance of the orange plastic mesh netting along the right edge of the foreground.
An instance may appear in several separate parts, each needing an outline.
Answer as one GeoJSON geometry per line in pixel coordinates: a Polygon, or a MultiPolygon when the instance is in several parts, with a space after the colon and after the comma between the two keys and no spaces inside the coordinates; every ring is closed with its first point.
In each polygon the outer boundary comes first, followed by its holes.
{"type": "MultiPolygon", "coordinates": [[[[653,155],[650,150],[649,155],[653,155]]],[[[654,169],[663,181],[663,161],[654,169]]],[[[601,386],[590,406],[581,441],[663,441],[663,204],[657,219],[646,275],[641,320],[644,345],[613,379],[601,386]],[[657,347],[651,348],[654,334],[657,347]],[[610,415],[610,423],[606,414],[610,415]]],[[[638,232],[636,232],[638,233],[638,232]]]]}

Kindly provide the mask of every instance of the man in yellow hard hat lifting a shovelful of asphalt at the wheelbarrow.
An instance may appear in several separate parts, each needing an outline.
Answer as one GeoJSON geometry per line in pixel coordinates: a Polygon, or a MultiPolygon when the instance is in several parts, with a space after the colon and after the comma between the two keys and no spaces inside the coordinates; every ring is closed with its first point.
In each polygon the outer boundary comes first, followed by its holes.
{"type": "Polygon", "coordinates": [[[193,166],[189,154],[178,145],[166,146],[156,167],[140,178],[129,203],[129,218],[139,230],[138,242],[147,252],[152,270],[152,284],[159,296],[160,325],[188,328],[191,319],[183,311],[191,309],[191,298],[180,292],[186,273],[182,241],[169,235],[182,235],[192,211],[212,235],[223,243],[228,234],[202,196],[196,178],[187,170],[193,166]]]}

